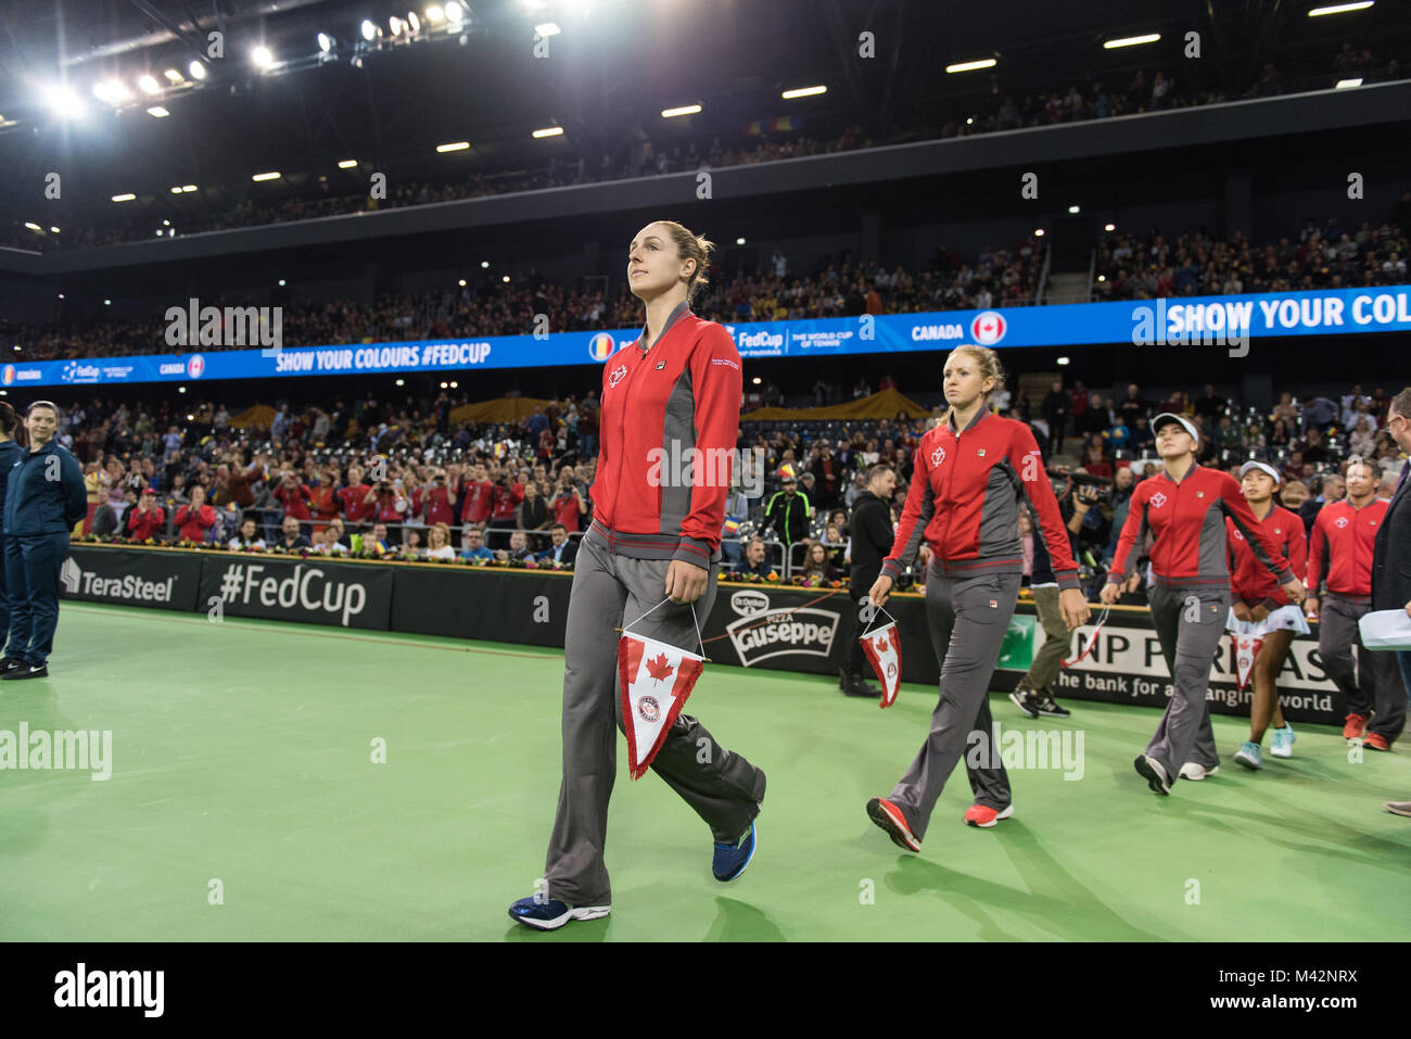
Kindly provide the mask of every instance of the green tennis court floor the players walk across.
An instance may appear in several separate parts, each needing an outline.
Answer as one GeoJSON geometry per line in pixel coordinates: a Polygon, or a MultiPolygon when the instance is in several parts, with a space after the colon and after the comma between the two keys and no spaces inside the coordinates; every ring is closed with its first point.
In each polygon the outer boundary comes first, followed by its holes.
{"type": "MultiPolygon", "coordinates": [[[[453,608],[447,604],[447,608],[453,608]]],[[[1232,759],[1160,799],[1133,772],[1157,716],[1072,703],[1007,730],[1084,735],[1084,774],[1010,772],[1013,819],[961,822],[951,778],[919,857],[864,805],[920,747],[935,690],[895,707],[837,680],[707,666],[689,710],[769,775],[759,851],[710,875],[704,824],[618,741],[612,915],[539,935],[559,791],[562,651],[65,604],[52,678],[0,685],[0,731],[111,730],[111,778],[0,772],[3,940],[1328,940],[1411,926],[1411,751],[1232,759]],[[374,741],[385,764],[374,764],[374,741]],[[212,881],[223,903],[212,905],[212,881]]],[[[1267,750],[1267,748],[1266,748],[1267,750]]]]}

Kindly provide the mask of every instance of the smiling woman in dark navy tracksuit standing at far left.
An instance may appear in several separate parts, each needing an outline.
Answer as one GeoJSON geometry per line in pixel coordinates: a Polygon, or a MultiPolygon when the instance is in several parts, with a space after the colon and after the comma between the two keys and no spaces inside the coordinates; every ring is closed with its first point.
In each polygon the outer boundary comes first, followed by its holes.
{"type": "Polygon", "coordinates": [[[4,496],[4,567],[10,632],[4,655],[20,665],[4,679],[44,678],[59,624],[59,569],[69,531],[87,514],[83,470],[54,439],[59,409],[35,401],[24,419],[30,452],[10,470],[4,496]]]}

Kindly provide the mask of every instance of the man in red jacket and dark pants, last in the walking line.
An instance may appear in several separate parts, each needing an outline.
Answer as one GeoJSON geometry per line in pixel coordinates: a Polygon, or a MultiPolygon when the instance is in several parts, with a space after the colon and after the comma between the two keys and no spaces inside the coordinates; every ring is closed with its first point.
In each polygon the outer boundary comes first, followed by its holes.
{"type": "Polygon", "coordinates": [[[1308,613],[1318,618],[1318,652],[1348,704],[1345,740],[1384,751],[1401,734],[1407,695],[1393,654],[1369,652],[1357,621],[1371,611],[1371,558],[1387,515],[1381,474],[1363,459],[1348,466],[1348,494],[1318,511],[1308,553],[1308,613]],[[1316,597],[1326,580],[1328,594],[1316,597]],[[1322,607],[1319,610],[1319,606],[1322,607]],[[1352,649],[1357,648],[1357,673],[1352,649]],[[1369,726],[1367,721],[1371,721],[1369,726]]]}

